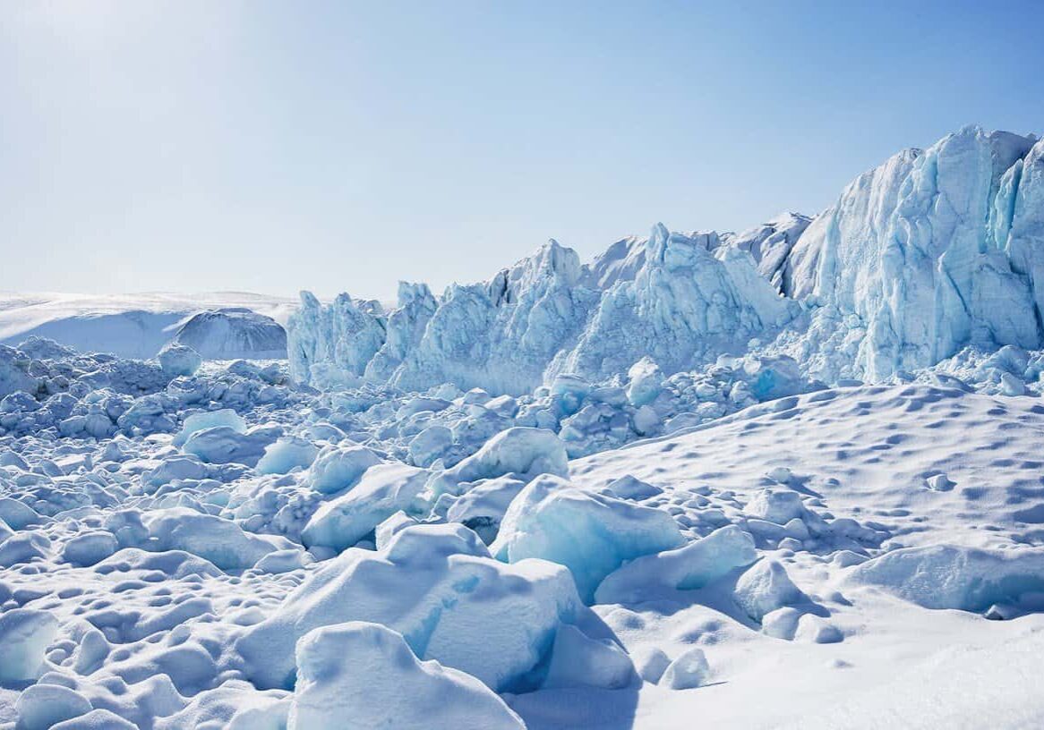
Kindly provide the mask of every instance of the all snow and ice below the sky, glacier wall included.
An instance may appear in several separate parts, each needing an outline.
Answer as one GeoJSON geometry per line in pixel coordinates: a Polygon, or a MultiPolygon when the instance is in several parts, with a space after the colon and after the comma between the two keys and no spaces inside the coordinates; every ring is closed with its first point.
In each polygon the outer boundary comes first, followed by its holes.
{"type": "Polygon", "coordinates": [[[11,297],[0,728],[1041,727],[1042,277],[966,128],[396,308],[11,297]]]}

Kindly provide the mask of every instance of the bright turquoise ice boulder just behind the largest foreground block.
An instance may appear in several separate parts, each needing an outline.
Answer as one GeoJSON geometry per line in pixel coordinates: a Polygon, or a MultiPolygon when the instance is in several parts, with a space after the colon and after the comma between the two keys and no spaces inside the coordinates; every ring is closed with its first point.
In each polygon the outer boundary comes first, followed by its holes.
{"type": "Polygon", "coordinates": [[[590,602],[598,584],[625,561],[685,542],[666,512],[535,480],[512,502],[491,550],[514,563],[543,558],[565,565],[580,597],[590,602]]]}

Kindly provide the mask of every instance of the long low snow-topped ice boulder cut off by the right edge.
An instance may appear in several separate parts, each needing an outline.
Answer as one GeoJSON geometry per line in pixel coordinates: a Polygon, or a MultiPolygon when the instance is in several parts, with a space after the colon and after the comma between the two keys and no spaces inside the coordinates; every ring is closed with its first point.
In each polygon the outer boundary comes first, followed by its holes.
{"type": "Polygon", "coordinates": [[[847,580],[880,586],[925,608],[982,611],[1044,591],[1044,549],[902,548],[856,565],[847,580]]]}

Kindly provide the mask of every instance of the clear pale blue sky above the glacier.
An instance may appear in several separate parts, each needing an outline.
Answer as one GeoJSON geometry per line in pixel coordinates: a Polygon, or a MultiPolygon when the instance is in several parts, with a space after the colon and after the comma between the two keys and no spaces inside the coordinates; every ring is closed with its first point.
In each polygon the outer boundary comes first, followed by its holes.
{"type": "Polygon", "coordinates": [[[0,290],[394,297],[1044,132],[1039,2],[3,4],[0,290]]]}

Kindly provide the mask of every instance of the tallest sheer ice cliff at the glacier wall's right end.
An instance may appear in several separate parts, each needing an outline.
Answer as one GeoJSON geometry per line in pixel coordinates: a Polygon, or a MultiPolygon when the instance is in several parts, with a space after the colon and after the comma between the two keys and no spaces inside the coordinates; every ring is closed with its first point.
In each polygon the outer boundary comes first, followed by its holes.
{"type": "Polygon", "coordinates": [[[1044,143],[967,127],[860,175],[796,244],[783,292],[864,332],[882,380],[965,345],[1041,345],[1044,143]]]}

